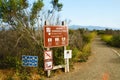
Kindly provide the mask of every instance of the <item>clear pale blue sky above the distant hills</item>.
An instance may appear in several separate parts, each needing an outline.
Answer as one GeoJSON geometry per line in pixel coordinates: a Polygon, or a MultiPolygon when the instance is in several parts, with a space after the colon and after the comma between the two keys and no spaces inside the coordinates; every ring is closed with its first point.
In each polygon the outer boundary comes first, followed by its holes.
{"type": "MultiPolygon", "coordinates": [[[[45,7],[51,0],[44,0],[45,7]]],[[[61,18],[71,24],[120,28],[120,0],[59,0],[61,18]]]]}

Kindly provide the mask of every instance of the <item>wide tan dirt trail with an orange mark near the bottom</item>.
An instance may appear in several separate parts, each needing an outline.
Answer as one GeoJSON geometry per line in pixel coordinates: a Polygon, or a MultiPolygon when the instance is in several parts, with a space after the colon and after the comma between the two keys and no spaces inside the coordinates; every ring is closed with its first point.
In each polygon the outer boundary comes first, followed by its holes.
{"type": "Polygon", "coordinates": [[[69,73],[48,80],[120,80],[120,57],[105,45],[100,38],[92,44],[92,56],[88,62],[69,73]]]}

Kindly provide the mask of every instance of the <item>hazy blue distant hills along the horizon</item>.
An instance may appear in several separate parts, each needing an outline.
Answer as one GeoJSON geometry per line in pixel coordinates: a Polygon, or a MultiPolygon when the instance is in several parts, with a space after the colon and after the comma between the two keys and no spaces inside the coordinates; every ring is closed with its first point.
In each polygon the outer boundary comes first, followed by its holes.
{"type": "Polygon", "coordinates": [[[117,30],[117,28],[109,28],[109,27],[101,27],[101,26],[81,26],[81,25],[71,25],[71,26],[69,26],[69,28],[70,29],[85,28],[85,29],[88,29],[88,30],[105,30],[105,29],[117,30]]]}

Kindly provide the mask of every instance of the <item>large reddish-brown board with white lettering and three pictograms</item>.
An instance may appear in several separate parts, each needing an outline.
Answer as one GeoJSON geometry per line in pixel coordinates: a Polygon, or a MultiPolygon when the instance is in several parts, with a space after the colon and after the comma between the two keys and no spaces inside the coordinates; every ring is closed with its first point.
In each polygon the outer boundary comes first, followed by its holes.
{"type": "Polygon", "coordinates": [[[44,47],[68,45],[68,28],[66,26],[44,26],[44,47]]]}

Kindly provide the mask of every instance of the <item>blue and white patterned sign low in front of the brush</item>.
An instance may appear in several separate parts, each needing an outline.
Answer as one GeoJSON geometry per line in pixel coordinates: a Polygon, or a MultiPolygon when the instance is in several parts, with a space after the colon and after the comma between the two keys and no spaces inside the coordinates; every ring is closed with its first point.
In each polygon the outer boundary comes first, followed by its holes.
{"type": "Polygon", "coordinates": [[[22,56],[22,65],[28,67],[38,66],[38,56],[22,56]]]}

